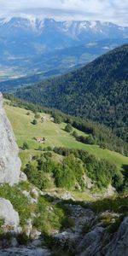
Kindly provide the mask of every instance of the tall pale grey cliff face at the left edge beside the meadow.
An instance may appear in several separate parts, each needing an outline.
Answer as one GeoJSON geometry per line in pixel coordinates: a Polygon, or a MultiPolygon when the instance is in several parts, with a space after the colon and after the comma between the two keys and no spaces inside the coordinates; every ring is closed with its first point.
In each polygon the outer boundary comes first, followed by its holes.
{"type": "Polygon", "coordinates": [[[3,109],[3,96],[0,93],[0,183],[19,183],[20,159],[15,143],[14,132],[3,109]]]}

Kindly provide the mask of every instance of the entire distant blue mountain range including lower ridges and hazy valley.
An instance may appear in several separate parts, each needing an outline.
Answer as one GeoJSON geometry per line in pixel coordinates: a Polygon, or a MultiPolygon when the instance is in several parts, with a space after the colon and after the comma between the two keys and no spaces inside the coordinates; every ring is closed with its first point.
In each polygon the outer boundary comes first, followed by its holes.
{"type": "Polygon", "coordinates": [[[128,42],[128,27],[101,21],[13,17],[0,19],[0,33],[0,81],[25,84],[67,73],[128,42]]]}

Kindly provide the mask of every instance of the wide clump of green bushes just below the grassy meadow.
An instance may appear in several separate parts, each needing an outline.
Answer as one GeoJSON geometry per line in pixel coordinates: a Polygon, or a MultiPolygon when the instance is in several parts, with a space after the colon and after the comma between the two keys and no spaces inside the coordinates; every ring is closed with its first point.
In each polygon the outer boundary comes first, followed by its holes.
{"type": "Polygon", "coordinates": [[[65,156],[61,162],[53,160],[51,152],[45,151],[36,159],[36,165],[26,165],[28,179],[39,189],[46,188],[45,181],[46,185],[49,184],[44,176],[44,173],[49,173],[50,177],[54,177],[56,187],[84,190],[84,175],[87,175],[95,184],[95,188],[108,188],[108,185],[112,184],[117,191],[121,191],[123,174],[107,160],[97,160],[94,155],[82,149],[54,148],[54,152],[65,156]]]}

